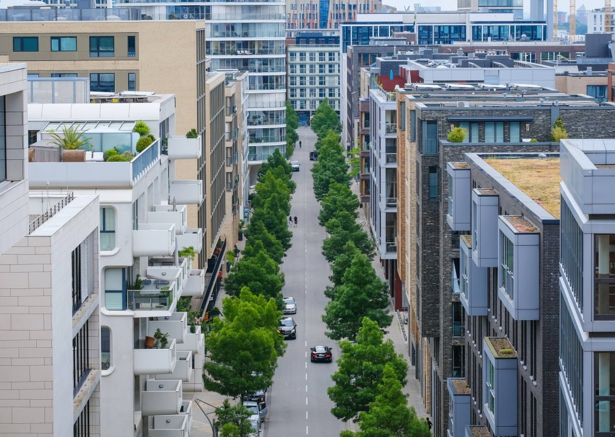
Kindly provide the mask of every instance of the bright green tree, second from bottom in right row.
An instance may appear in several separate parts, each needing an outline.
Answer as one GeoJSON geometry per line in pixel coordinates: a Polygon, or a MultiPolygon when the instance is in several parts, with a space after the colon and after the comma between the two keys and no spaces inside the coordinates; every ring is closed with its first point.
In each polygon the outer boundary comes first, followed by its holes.
{"type": "Polygon", "coordinates": [[[398,384],[406,384],[408,363],[395,352],[393,342],[383,342],[383,338],[378,323],[365,317],[356,343],[339,342],[338,370],[331,376],[335,385],[327,389],[335,403],[331,414],[338,419],[346,422],[354,418],[356,422],[359,412],[368,411],[376,399],[385,365],[391,366],[398,384]]]}

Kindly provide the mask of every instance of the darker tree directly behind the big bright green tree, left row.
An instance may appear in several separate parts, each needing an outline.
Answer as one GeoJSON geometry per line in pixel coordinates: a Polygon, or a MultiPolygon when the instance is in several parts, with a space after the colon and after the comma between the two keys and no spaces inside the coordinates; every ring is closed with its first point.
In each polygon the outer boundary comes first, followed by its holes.
{"type": "Polygon", "coordinates": [[[280,266],[264,250],[263,243],[255,243],[250,256],[235,263],[224,281],[224,289],[229,296],[239,296],[244,287],[252,293],[276,298],[284,286],[284,273],[280,266]]]}

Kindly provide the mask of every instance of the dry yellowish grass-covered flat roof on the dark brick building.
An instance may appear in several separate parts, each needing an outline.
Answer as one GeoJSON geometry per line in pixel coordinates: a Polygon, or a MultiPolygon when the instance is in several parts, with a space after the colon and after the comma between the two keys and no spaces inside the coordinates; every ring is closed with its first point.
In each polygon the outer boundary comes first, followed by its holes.
{"type": "Polygon", "coordinates": [[[515,184],[530,199],[550,215],[560,218],[560,159],[559,158],[485,158],[502,176],[515,184]]]}

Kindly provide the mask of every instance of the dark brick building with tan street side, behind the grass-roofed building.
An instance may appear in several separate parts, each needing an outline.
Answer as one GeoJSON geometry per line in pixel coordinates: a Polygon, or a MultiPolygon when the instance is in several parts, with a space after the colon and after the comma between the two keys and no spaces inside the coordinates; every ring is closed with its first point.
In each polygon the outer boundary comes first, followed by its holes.
{"type": "MultiPolygon", "coordinates": [[[[406,131],[403,165],[398,156],[398,180],[405,184],[405,197],[397,200],[398,217],[406,221],[405,238],[400,235],[406,253],[398,253],[398,264],[405,259],[405,278],[400,278],[409,305],[409,353],[416,363],[427,411],[434,417],[436,435],[443,435],[449,407],[446,378],[467,374],[458,280],[459,236],[469,232],[454,229],[447,221],[446,164],[462,160],[466,152],[555,152],[557,144],[548,141],[557,116],[563,118],[570,136],[587,136],[591,120],[609,120],[614,107],[585,96],[561,94],[556,103],[555,96],[547,100],[554,90],[534,87],[511,101],[506,90],[480,91],[475,85],[474,90],[447,92],[427,91],[426,86],[434,84],[413,86],[422,89],[418,96],[398,91],[398,119],[405,119],[406,131]],[[438,93],[448,93],[448,97],[438,93]],[[453,146],[444,138],[458,126],[466,128],[467,136],[453,146]],[[532,139],[538,143],[530,143],[532,139]]],[[[605,122],[605,137],[614,128],[605,122]]]]}

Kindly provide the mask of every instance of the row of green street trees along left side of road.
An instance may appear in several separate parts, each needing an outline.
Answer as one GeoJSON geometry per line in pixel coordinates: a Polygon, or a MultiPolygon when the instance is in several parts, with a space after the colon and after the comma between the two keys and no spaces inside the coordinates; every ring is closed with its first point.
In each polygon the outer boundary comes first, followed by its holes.
{"type": "Polygon", "coordinates": [[[282,318],[284,274],[280,263],[290,248],[290,197],[296,184],[292,168],[276,150],[261,166],[253,213],[246,229],[242,258],[226,277],[221,318],[207,335],[203,380],[207,390],[239,398],[216,410],[220,437],[252,433],[244,395],[272,384],[277,360],[284,355],[284,338],[277,333],[282,318]]]}

